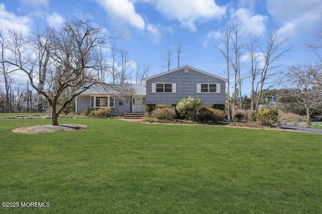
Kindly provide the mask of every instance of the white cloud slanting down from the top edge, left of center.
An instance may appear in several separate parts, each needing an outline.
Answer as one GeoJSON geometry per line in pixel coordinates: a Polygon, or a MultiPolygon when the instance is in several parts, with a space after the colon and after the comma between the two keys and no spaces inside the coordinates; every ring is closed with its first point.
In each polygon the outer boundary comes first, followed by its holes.
{"type": "Polygon", "coordinates": [[[138,29],[145,28],[145,22],[136,13],[131,0],[96,0],[96,2],[104,8],[113,21],[128,23],[138,29]]]}

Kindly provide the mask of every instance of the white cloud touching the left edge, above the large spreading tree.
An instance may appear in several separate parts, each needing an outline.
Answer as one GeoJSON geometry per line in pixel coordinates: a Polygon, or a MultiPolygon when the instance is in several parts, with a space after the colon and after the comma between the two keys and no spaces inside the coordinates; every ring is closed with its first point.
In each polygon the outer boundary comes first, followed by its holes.
{"type": "Polygon", "coordinates": [[[3,29],[16,29],[27,33],[30,29],[31,19],[27,16],[17,17],[15,14],[8,12],[4,4],[0,4],[0,25],[3,29]]]}

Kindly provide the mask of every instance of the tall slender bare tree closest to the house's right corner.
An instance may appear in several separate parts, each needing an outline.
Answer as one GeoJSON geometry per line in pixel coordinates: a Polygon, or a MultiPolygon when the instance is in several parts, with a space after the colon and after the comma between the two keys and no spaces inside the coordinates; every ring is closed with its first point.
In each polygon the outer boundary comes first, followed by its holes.
{"type": "Polygon", "coordinates": [[[224,48],[221,49],[218,47],[216,44],[215,47],[218,51],[221,52],[222,56],[225,58],[225,63],[226,63],[226,76],[227,76],[227,116],[228,120],[231,119],[230,115],[230,73],[229,73],[229,68],[230,68],[230,55],[229,55],[229,44],[230,44],[230,39],[231,39],[231,29],[228,25],[225,25],[223,33],[221,34],[221,38],[219,38],[221,43],[223,44],[224,48]]]}

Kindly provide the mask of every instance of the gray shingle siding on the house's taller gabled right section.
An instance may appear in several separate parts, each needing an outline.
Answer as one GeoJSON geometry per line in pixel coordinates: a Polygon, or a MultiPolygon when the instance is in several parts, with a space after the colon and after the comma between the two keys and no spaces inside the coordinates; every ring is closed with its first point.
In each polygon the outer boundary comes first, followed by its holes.
{"type": "Polygon", "coordinates": [[[202,104],[225,104],[225,81],[185,68],[146,81],[146,104],[177,104],[184,97],[199,97],[202,104]],[[152,93],[152,83],[176,83],[176,93],[152,93]],[[220,93],[197,93],[197,83],[219,83],[220,93]]]}

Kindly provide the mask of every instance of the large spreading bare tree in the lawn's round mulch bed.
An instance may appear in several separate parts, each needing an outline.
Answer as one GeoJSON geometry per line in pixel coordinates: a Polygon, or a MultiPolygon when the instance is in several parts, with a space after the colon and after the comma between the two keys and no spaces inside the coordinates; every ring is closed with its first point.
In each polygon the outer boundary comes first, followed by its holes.
{"type": "Polygon", "coordinates": [[[36,32],[31,39],[27,39],[21,33],[11,31],[8,50],[12,57],[5,62],[14,66],[15,71],[23,71],[28,76],[31,86],[46,98],[51,107],[51,124],[58,125],[59,113],[77,95],[94,84],[110,87],[99,78],[102,64],[98,55],[103,54],[102,49],[110,47],[112,36],[102,27],[93,27],[91,21],[81,19],[68,20],[60,28],[46,28],[39,34],[36,32]],[[35,54],[40,53],[39,50],[48,54],[47,64],[46,57],[40,58],[35,54]],[[39,81],[43,81],[42,74],[39,74],[43,69],[39,67],[45,65],[45,81],[39,85],[39,81]],[[65,90],[72,93],[58,108],[60,95],[65,90]]]}

